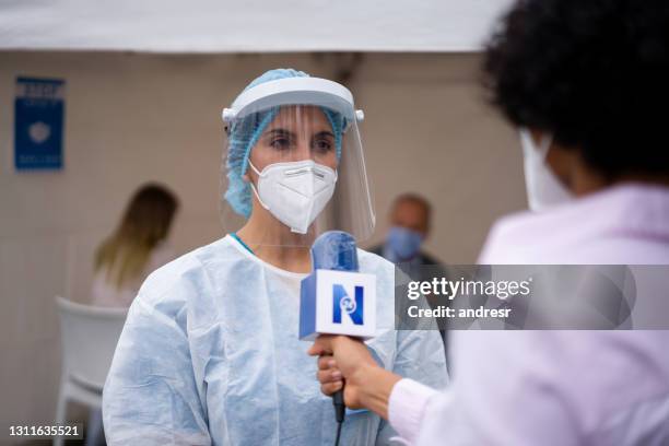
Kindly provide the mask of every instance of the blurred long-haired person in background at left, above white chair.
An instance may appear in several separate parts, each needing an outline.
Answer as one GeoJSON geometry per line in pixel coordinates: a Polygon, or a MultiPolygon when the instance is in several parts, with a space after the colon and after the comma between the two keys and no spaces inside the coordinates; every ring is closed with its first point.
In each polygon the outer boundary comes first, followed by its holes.
{"type": "Polygon", "coordinates": [[[175,258],[166,240],[178,207],[163,186],[134,192],[119,226],[95,251],[93,305],[129,307],[146,277],[175,258]]]}

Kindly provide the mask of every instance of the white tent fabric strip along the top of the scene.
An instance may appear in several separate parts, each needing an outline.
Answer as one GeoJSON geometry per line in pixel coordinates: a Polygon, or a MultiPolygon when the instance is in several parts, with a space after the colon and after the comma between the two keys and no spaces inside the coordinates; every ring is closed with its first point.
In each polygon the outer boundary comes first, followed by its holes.
{"type": "Polygon", "coordinates": [[[3,0],[0,49],[476,51],[510,0],[3,0]]]}

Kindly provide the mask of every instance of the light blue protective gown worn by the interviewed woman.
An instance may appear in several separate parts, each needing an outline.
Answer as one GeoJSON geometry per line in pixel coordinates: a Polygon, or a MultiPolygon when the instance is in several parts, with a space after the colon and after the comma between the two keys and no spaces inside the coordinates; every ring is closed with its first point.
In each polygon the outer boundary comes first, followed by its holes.
{"type": "MultiPolygon", "coordinates": [[[[377,277],[377,336],[387,369],[446,385],[438,331],[394,330],[394,267],[359,250],[377,277]]],[[[110,445],[332,445],[330,398],[316,380],[309,342],[297,339],[300,281],[230,235],[151,274],[132,303],[107,377],[110,445]]],[[[342,445],[388,444],[389,424],[349,413],[342,445]]]]}

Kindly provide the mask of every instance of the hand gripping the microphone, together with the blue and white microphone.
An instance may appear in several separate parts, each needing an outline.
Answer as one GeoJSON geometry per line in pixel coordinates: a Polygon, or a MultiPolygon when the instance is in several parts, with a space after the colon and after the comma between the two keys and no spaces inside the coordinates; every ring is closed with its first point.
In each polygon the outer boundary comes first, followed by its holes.
{"type": "Polygon", "coordinates": [[[308,353],[321,356],[321,390],[332,396],[339,423],[344,401],[387,418],[387,400],[400,377],[379,367],[362,342],[376,331],[376,278],[359,272],[355,240],[343,232],[320,235],[312,260],[314,271],[301,287],[300,339],[315,340],[308,353]]]}

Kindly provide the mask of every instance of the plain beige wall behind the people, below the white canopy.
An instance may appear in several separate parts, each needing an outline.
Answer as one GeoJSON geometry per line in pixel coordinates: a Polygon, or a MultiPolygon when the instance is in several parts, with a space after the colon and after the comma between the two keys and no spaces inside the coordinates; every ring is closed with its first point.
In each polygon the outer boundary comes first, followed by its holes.
{"type": "MultiPolygon", "coordinates": [[[[403,191],[434,203],[429,249],[473,262],[493,220],[525,206],[515,133],[478,86],[473,55],[365,55],[349,86],[379,218],[403,191]]],[[[330,56],[0,52],[0,425],[47,421],[59,379],[54,296],[86,302],[92,253],[131,192],[160,180],[181,199],[174,245],[221,236],[220,110],[255,75],[330,56]],[[67,80],[64,169],[13,171],[16,75],[67,80]]],[[[368,244],[369,244],[368,243],[368,244]]]]}

